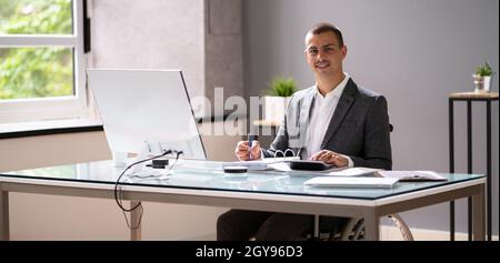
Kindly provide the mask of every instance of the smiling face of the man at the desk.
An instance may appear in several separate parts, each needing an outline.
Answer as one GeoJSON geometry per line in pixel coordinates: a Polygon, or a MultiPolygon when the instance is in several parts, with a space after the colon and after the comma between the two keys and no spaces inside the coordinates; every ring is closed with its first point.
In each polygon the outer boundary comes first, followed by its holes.
{"type": "Polygon", "coordinates": [[[327,77],[341,73],[346,55],[346,45],[339,47],[333,32],[310,33],[306,37],[306,58],[316,74],[327,77]]]}

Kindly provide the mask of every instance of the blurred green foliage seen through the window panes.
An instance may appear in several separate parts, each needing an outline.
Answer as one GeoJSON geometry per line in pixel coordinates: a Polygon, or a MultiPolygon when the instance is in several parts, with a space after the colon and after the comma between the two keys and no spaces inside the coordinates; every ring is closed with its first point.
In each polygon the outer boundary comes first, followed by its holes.
{"type": "MultiPolygon", "coordinates": [[[[71,0],[0,0],[0,34],[71,34],[71,0]]],[[[0,48],[0,100],[73,94],[73,50],[0,48]]]]}

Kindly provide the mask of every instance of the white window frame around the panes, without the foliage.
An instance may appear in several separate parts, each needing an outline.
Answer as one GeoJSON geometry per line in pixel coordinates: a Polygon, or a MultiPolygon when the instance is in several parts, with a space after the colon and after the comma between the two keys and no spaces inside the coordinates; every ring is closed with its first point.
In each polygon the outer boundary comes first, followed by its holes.
{"type": "Polygon", "coordinates": [[[88,118],[83,0],[72,0],[72,34],[0,34],[0,48],[70,48],[74,95],[0,101],[0,123],[88,118]]]}

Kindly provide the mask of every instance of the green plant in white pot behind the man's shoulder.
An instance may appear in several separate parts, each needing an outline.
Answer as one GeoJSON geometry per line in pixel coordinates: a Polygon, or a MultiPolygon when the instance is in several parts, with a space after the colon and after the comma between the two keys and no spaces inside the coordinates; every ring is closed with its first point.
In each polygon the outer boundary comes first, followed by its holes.
{"type": "Polygon", "coordinates": [[[280,123],[284,117],[288,102],[297,91],[297,83],[292,78],[277,77],[272,79],[264,95],[264,120],[280,123]]]}

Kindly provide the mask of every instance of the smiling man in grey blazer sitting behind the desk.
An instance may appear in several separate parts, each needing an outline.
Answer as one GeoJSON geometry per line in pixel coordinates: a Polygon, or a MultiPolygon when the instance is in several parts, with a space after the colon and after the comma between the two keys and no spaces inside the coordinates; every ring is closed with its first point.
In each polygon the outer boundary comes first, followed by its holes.
{"type": "MultiPolygon", "coordinates": [[[[342,33],[320,23],[306,36],[306,58],[316,85],[297,92],[287,109],[270,150],[256,141],[238,143],[240,160],[269,158],[291,149],[302,159],[337,166],[368,166],[390,170],[391,146],[387,101],[358,87],[343,72],[347,55],[342,33]]],[[[218,240],[297,240],[312,230],[312,215],[231,210],[217,222],[218,240]]],[[[321,218],[320,229],[341,227],[346,219],[321,218]]]]}

